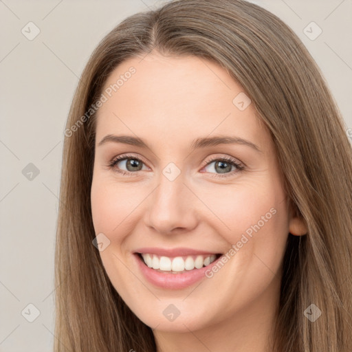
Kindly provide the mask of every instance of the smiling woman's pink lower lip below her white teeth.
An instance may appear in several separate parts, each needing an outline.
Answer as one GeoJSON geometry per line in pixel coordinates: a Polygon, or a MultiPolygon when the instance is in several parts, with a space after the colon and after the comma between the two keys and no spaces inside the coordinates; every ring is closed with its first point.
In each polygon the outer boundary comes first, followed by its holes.
{"type": "Polygon", "coordinates": [[[134,256],[145,278],[153,285],[162,287],[163,289],[184,289],[197,283],[202,278],[206,278],[206,271],[211,270],[212,266],[216,265],[217,261],[221,259],[221,256],[219,256],[216,261],[200,269],[193,269],[180,274],[168,274],[168,272],[157,272],[157,270],[148,267],[138,254],[134,254],[134,256]]]}

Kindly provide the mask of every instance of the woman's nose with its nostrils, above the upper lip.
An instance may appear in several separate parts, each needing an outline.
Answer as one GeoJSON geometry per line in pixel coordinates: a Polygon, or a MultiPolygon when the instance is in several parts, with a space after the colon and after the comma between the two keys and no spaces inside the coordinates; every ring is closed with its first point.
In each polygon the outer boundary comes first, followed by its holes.
{"type": "Polygon", "coordinates": [[[160,234],[190,232],[197,226],[199,199],[186,185],[183,174],[171,181],[160,176],[159,185],[148,197],[145,223],[160,234]]]}

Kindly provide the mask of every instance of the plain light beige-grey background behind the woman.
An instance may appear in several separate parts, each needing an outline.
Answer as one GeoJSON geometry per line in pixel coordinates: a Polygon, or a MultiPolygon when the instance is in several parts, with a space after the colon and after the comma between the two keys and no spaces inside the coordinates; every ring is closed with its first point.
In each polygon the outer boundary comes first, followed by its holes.
{"type": "MultiPolygon", "coordinates": [[[[252,2],[274,12],[302,39],[327,79],[346,129],[352,128],[352,0],[252,2]],[[303,32],[311,21],[322,29],[314,41],[303,32]]],[[[2,352],[52,351],[54,239],[69,105],[100,39],[130,14],[160,3],[0,0],[2,352]],[[41,31],[32,41],[21,32],[34,33],[30,21],[41,31]],[[22,173],[30,163],[39,169],[32,180],[22,173]],[[33,322],[27,320],[35,318],[30,303],[40,311],[33,322]]]]}

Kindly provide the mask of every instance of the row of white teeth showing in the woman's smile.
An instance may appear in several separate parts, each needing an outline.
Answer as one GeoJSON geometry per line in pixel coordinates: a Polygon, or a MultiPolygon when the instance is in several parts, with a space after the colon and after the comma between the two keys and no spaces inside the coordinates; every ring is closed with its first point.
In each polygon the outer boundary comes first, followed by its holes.
{"type": "Polygon", "coordinates": [[[175,258],[169,258],[168,256],[157,256],[155,254],[142,254],[144,263],[148,267],[152,267],[155,270],[163,272],[184,272],[185,270],[200,269],[203,266],[207,266],[212,263],[217,257],[212,254],[208,256],[198,255],[195,257],[187,256],[186,260],[181,256],[175,258]]]}

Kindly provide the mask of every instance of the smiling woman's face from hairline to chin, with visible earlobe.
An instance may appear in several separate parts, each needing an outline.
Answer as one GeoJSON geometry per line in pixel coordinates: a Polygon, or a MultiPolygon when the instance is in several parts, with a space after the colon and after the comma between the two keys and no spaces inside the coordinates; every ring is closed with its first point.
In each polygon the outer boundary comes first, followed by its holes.
{"type": "Polygon", "coordinates": [[[124,61],[103,94],[91,208],[124,302],[160,331],[266,321],[287,235],[304,231],[241,86],[210,61],[152,53],[124,61]]]}

